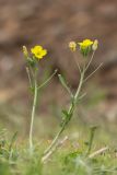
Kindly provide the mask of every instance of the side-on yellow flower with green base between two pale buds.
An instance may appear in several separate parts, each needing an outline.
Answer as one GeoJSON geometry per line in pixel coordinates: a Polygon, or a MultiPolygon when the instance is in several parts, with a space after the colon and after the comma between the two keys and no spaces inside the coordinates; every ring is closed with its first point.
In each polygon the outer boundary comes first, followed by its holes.
{"type": "Polygon", "coordinates": [[[78,43],[80,45],[80,51],[84,57],[91,52],[93,43],[94,42],[91,39],[84,39],[83,42],[78,43]]]}

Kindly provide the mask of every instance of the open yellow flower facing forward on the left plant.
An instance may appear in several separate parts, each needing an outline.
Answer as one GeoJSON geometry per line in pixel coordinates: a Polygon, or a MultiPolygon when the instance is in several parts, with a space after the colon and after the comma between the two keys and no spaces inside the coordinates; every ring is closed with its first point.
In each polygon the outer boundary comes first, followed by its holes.
{"type": "Polygon", "coordinates": [[[47,55],[47,50],[44,49],[42,46],[35,46],[31,48],[31,52],[35,56],[37,59],[42,59],[44,56],[47,55]]]}

